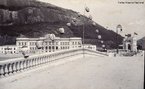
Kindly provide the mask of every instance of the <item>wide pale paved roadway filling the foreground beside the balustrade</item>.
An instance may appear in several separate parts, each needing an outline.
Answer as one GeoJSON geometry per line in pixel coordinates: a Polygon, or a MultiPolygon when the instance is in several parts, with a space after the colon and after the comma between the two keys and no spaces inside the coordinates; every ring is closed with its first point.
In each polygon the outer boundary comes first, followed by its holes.
{"type": "Polygon", "coordinates": [[[141,57],[64,59],[0,80],[0,89],[143,89],[141,57]]]}

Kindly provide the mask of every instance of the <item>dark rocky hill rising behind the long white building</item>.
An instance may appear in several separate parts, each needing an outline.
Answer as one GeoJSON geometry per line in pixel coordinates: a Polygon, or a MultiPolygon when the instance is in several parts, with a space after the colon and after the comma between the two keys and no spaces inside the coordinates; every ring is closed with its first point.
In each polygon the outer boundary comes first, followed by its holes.
{"type": "MultiPolygon", "coordinates": [[[[54,33],[59,37],[82,37],[83,28],[85,43],[101,46],[98,40],[101,35],[108,48],[115,47],[115,32],[75,11],[37,0],[0,0],[0,45],[15,44],[20,35],[40,37],[54,33]],[[64,28],[64,34],[59,28],[64,28]]],[[[122,37],[118,38],[121,43],[122,37]]]]}

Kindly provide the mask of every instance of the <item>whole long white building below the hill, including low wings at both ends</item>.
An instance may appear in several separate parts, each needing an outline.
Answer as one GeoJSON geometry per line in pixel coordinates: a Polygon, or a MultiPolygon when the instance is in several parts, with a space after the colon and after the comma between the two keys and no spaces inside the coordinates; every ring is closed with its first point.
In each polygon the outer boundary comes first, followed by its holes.
{"type": "MultiPolygon", "coordinates": [[[[82,38],[70,37],[60,38],[55,37],[54,34],[47,34],[39,38],[16,38],[16,45],[0,46],[0,53],[2,54],[26,54],[55,52],[59,50],[82,48],[82,38]],[[27,50],[26,50],[27,49],[27,50]]],[[[96,51],[96,45],[84,44],[84,48],[96,51]]]]}

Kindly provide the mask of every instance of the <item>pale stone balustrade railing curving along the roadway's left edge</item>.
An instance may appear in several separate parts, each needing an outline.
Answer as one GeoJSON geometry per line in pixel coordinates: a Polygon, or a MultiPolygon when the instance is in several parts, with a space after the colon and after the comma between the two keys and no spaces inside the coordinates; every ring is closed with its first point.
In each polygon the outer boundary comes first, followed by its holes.
{"type": "Polygon", "coordinates": [[[22,72],[24,70],[31,69],[41,64],[45,64],[58,59],[63,59],[64,57],[80,55],[83,53],[83,51],[85,54],[106,56],[106,54],[104,53],[100,53],[89,49],[72,49],[51,54],[44,53],[39,55],[32,55],[28,58],[9,59],[5,61],[0,61],[0,77],[6,77],[17,72],[22,72]]]}

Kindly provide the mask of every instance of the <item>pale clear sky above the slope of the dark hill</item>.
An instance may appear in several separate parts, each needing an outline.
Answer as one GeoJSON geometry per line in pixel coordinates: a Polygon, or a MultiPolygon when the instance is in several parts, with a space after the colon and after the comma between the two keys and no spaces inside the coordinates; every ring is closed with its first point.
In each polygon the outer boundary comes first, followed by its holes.
{"type": "Polygon", "coordinates": [[[87,6],[93,20],[103,27],[116,32],[121,24],[122,36],[136,32],[138,39],[145,36],[145,0],[39,0],[83,14],[87,6]],[[143,1],[144,4],[119,4],[119,1],[143,1]]]}

